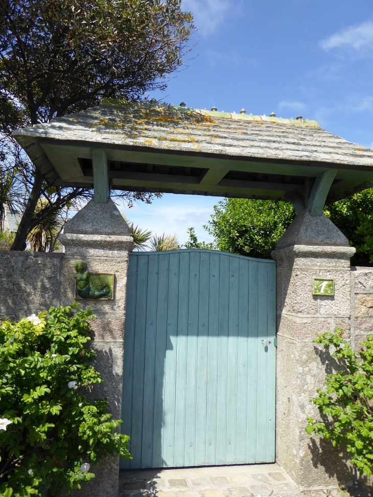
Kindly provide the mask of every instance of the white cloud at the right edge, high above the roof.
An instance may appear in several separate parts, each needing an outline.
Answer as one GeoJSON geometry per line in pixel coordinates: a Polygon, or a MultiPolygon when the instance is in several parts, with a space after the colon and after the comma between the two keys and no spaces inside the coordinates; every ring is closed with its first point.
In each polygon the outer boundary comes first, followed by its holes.
{"type": "Polygon", "coordinates": [[[365,21],[358,26],[350,26],[319,42],[319,46],[329,52],[332,49],[345,49],[349,53],[364,55],[373,50],[373,21],[365,21]]]}

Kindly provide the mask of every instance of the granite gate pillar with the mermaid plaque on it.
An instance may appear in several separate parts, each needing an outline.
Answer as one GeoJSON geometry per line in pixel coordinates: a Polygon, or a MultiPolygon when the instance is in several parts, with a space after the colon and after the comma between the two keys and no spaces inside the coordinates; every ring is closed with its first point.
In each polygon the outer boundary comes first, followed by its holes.
{"type": "MultiPolygon", "coordinates": [[[[109,412],[121,418],[124,320],[126,313],[128,254],[133,248],[129,228],[118,208],[109,199],[106,204],[93,200],[69,221],[60,236],[65,246],[62,266],[62,304],[74,302],[74,264],[84,261],[90,272],[114,273],[113,300],[78,300],[82,309],[91,307],[96,350],[95,368],[104,382],[95,386],[95,398],[108,397],[109,412]]],[[[108,458],[94,469],[96,478],[82,485],[81,497],[116,497],[119,483],[119,458],[108,458]]]]}

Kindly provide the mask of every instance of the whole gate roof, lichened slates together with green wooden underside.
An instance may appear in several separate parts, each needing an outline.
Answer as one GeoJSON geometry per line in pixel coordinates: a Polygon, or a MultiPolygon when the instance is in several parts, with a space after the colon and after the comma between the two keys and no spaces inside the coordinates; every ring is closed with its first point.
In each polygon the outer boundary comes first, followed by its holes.
{"type": "Polygon", "coordinates": [[[278,200],[328,169],[330,199],[373,186],[373,151],[308,120],[106,101],[14,136],[56,185],[91,187],[104,148],[121,190],[278,200]]]}

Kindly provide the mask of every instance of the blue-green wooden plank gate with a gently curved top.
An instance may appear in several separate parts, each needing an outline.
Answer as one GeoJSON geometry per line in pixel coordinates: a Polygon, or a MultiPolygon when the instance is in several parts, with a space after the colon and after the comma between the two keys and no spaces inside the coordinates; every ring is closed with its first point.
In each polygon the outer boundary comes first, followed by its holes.
{"type": "Polygon", "coordinates": [[[121,467],[274,462],[274,261],[133,252],[127,288],[121,467]]]}

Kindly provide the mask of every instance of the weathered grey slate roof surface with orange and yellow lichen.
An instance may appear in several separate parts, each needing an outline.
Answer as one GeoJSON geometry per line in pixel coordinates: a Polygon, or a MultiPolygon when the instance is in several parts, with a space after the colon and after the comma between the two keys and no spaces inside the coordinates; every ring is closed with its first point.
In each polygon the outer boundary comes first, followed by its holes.
{"type": "Polygon", "coordinates": [[[259,159],[365,165],[373,171],[373,150],[335,136],[315,121],[161,104],[123,105],[117,100],[105,100],[98,107],[17,130],[14,136],[25,148],[30,138],[52,138],[259,159]]]}

